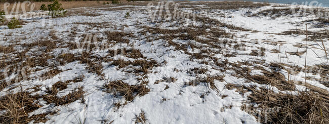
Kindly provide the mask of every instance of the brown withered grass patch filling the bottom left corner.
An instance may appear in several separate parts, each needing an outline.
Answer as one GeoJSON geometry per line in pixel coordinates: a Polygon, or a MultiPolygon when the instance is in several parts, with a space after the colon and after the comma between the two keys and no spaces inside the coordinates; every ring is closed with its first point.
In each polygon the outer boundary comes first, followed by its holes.
{"type": "Polygon", "coordinates": [[[4,113],[0,114],[0,121],[3,123],[28,123],[31,120],[34,122],[46,122],[47,115],[52,115],[55,111],[36,114],[29,117],[29,113],[42,107],[36,103],[40,98],[43,98],[48,103],[54,103],[56,106],[65,105],[74,102],[84,97],[83,88],[78,88],[68,95],[58,98],[55,95],[37,95],[32,96],[28,92],[18,92],[15,94],[7,94],[0,98],[0,110],[4,113]]]}

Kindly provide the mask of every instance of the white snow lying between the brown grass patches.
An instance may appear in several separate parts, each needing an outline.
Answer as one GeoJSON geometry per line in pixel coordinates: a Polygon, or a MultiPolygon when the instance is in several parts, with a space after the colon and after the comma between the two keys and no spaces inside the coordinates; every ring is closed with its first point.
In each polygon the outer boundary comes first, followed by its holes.
{"type": "MultiPolygon", "coordinates": [[[[199,7],[203,7],[203,5],[198,5],[199,7]]],[[[261,11],[264,9],[269,9],[270,7],[262,7],[256,9],[254,12],[261,11]]],[[[166,65],[160,65],[158,67],[153,67],[149,70],[150,73],[146,74],[147,79],[149,81],[148,88],[151,91],[144,95],[136,97],[132,102],[129,102],[124,107],[120,107],[116,109],[114,103],[123,102],[124,99],[119,99],[113,97],[113,95],[105,93],[100,90],[107,81],[114,80],[123,80],[129,85],[137,85],[140,82],[138,81],[138,77],[135,74],[128,73],[123,71],[123,69],[119,69],[116,66],[111,65],[111,62],[101,62],[103,65],[102,73],[104,77],[100,77],[95,73],[91,73],[88,71],[88,65],[81,64],[78,61],[74,61],[71,63],[66,63],[65,65],[58,66],[63,72],[55,75],[54,77],[46,80],[27,80],[22,81],[23,90],[27,90],[33,88],[35,85],[41,85],[40,91],[34,92],[32,95],[42,95],[45,94],[46,88],[51,88],[53,84],[58,81],[66,81],[71,80],[81,75],[84,75],[84,79],[81,82],[74,82],[68,84],[68,88],[59,92],[57,94],[58,97],[67,95],[70,91],[74,90],[77,87],[84,87],[85,93],[85,103],[81,103],[80,100],[72,102],[68,105],[63,106],[55,106],[52,104],[46,104],[42,99],[39,99],[38,103],[40,105],[44,105],[42,108],[37,109],[29,114],[29,116],[33,114],[46,113],[50,110],[56,110],[56,114],[49,115],[50,118],[46,123],[78,123],[79,121],[85,121],[85,123],[101,123],[104,120],[114,120],[113,123],[134,123],[135,117],[141,111],[145,112],[145,116],[147,117],[148,123],[258,123],[256,118],[241,110],[242,104],[248,100],[248,93],[239,94],[235,92],[236,89],[228,90],[225,89],[226,84],[236,84],[236,85],[244,85],[244,86],[256,86],[257,88],[266,88],[274,91],[275,93],[291,93],[297,95],[297,91],[305,91],[305,87],[301,85],[295,85],[296,91],[280,91],[276,87],[270,85],[260,85],[256,82],[246,82],[244,78],[237,78],[236,76],[231,75],[234,73],[231,70],[227,70],[222,73],[218,69],[214,68],[210,65],[201,64],[197,61],[191,61],[190,55],[182,53],[181,51],[174,51],[174,47],[165,47],[166,41],[162,39],[153,40],[152,43],[146,42],[145,38],[142,35],[138,34],[139,28],[135,25],[135,23],[142,23],[141,25],[156,25],[154,23],[149,22],[149,18],[147,12],[144,10],[145,6],[118,6],[112,7],[108,6],[105,8],[86,8],[86,12],[94,12],[102,14],[97,17],[86,17],[86,16],[67,16],[61,18],[54,18],[52,22],[53,25],[39,25],[39,23],[43,20],[34,20],[35,22],[30,21],[23,25],[22,28],[18,29],[3,29],[0,32],[0,38],[7,37],[6,34],[13,34],[17,36],[25,36],[26,39],[22,39],[21,43],[32,43],[37,41],[40,37],[44,37],[49,35],[51,30],[55,30],[59,38],[65,40],[66,42],[74,42],[75,37],[69,38],[69,32],[72,29],[76,29],[78,34],[86,34],[86,33],[96,33],[96,32],[105,32],[105,31],[129,31],[133,32],[134,35],[141,37],[140,39],[130,39],[130,42],[134,43],[134,49],[141,50],[143,56],[147,57],[147,59],[153,59],[158,63],[166,61],[166,65]],[[117,11],[106,11],[102,9],[108,8],[124,8],[124,7],[134,7],[134,11],[131,10],[117,10],[117,11]],[[126,12],[131,12],[132,15],[129,19],[124,17],[126,12]],[[90,22],[90,23],[98,23],[98,24],[110,24],[109,27],[104,27],[101,30],[99,28],[92,28],[88,25],[76,25],[75,22],[90,22]],[[114,29],[113,26],[118,28],[123,25],[128,25],[129,27],[125,27],[122,29],[114,29]],[[25,32],[25,34],[23,34],[25,32]],[[211,89],[205,83],[197,86],[184,86],[186,82],[195,80],[196,75],[189,74],[188,71],[193,69],[194,67],[207,68],[209,71],[207,74],[200,74],[198,76],[207,76],[207,75],[225,75],[225,81],[215,80],[215,85],[219,89],[218,91],[211,89]],[[178,69],[180,71],[174,71],[174,69],[178,69]],[[65,70],[65,71],[64,71],[65,70]],[[161,80],[163,77],[175,77],[177,80],[175,82],[166,82],[161,81],[158,84],[154,84],[156,80],[161,80]],[[106,79],[106,80],[104,80],[106,79]],[[169,86],[169,89],[165,89],[166,85],[169,86]],[[200,96],[203,95],[204,98],[200,96]],[[227,95],[227,97],[222,97],[223,95],[227,95]],[[163,101],[163,99],[166,101],[163,101]],[[232,106],[228,108],[227,106],[232,106]],[[222,110],[224,109],[224,110],[222,110]]],[[[184,10],[184,9],[183,9],[184,10]]],[[[186,12],[190,10],[185,10],[186,12]]],[[[237,38],[237,42],[241,41],[249,41],[249,42],[258,42],[259,44],[255,45],[252,43],[244,43],[247,46],[253,46],[255,48],[247,47],[246,51],[236,51],[239,54],[236,57],[224,57],[222,54],[216,54],[213,57],[219,58],[220,60],[227,59],[228,62],[241,62],[241,61],[253,61],[253,60],[266,60],[266,64],[270,64],[271,62],[282,62],[291,65],[296,65],[299,67],[304,67],[305,65],[305,54],[301,56],[285,54],[285,52],[296,52],[297,43],[305,44],[303,39],[306,37],[305,35],[278,35],[283,31],[291,30],[291,29],[301,29],[305,30],[304,25],[296,26],[290,22],[300,22],[303,20],[307,20],[310,17],[279,17],[276,19],[272,19],[270,17],[246,17],[243,14],[249,9],[240,9],[237,11],[232,10],[220,10],[223,13],[226,13],[226,17],[220,17],[216,14],[218,13],[208,13],[208,17],[223,21],[227,24],[233,24],[235,26],[257,30],[253,31],[238,31],[234,32],[237,38]],[[231,18],[228,18],[231,17],[231,18]],[[265,40],[269,40],[271,42],[284,41],[281,45],[278,44],[276,46],[269,45],[265,40]],[[266,48],[265,54],[266,56],[246,56],[252,52],[252,50],[257,49],[257,47],[266,48]],[[280,49],[281,53],[271,53],[272,49],[280,49]],[[280,58],[280,57],[289,58],[280,58]],[[279,57],[280,56],[280,57],[279,57]]],[[[46,21],[47,22],[47,21],[46,21]]],[[[140,25],[140,26],[141,26],[140,25]]],[[[162,28],[167,29],[176,29],[178,27],[168,27],[172,25],[171,22],[163,23],[161,25],[162,28]]],[[[231,32],[230,29],[224,28],[226,31],[231,32]]],[[[322,30],[325,28],[311,28],[309,30],[322,30]]],[[[152,35],[152,34],[149,34],[152,35]]],[[[100,37],[106,37],[105,35],[100,35],[100,37]]],[[[13,37],[12,37],[13,38],[13,37]]],[[[7,40],[1,40],[0,44],[3,46],[7,46],[13,44],[10,42],[11,38],[7,40]]],[[[195,41],[187,41],[174,39],[172,42],[179,44],[187,44],[189,42],[195,41]]],[[[309,42],[308,44],[314,45],[315,43],[309,42]]],[[[324,43],[325,46],[328,46],[328,42],[324,43]]],[[[120,49],[120,48],[128,48],[127,44],[116,44],[110,46],[109,50],[120,49]]],[[[318,65],[323,64],[325,60],[325,53],[320,50],[320,47],[315,45],[313,46],[317,49],[308,49],[307,52],[307,65],[318,65]]],[[[21,49],[21,48],[16,48],[21,49]]],[[[305,48],[300,48],[301,50],[305,50],[305,48]]],[[[32,54],[34,50],[30,50],[29,53],[32,54]]],[[[37,51],[37,49],[35,50],[37,51]]],[[[81,49],[82,51],[82,49],[81,49]]],[[[187,49],[190,53],[199,53],[199,49],[192,50],[192,48],[187,49]]],[[[68,48],[58,48],[52,51],[52,55],[58,56],[61,53],[79,53],[79,50],[69,50],[68,48]]],[[[100,56],[105,56],[106,52],[104,51],[92,51],[93,54],[97,54],[100,56]]],[[[2,55],[3,56],[3,55],[2,55]]],[[[111,59],[124,59],[134,61],[135,59],[128,58],[121,55],[116,55],[111,59]]],[[[263,66],[263,65],[260,65],[263,66]]],[[[263,66],[264,67],[264,66],[263,66]]],[[[266,68],[266,70],[271,70],[266,68]]],[[[40,70],[38,72],[43,73],[47,71],[40,70]]],[[[262,70],[254,69],[251,71],[251,75],[264,75],[262,70]]],[[[289,73],[286,70],[280,70],[285,76],[285,79],[288,79],[289,73]]],[[[314,76],[312,73],[306,73],[308,76],[314,76]]],[[[297,75],[290,75],[291,78],[297,81],[305,81],[304,72],[300,72],[297,75]]],[[[10,75],[8,78],[14,78],[15,74],[10,75]]],[[[316,78],[320,78],[319,75],[315,76],[316,78]]],[[[19,83],[13,84],[11,87],[7,87],[0,92],[0,96],[5,96],[8,93],[17,93],[20,91],[19,83]],[[16,88],[14,88],[16,87],[16,88]],[[11,89],[14,88],[14,89],[11,89]]],[[[310,85],[319,87],[326,91],[329,91],[329,88],[322,85],[319,81],[312,80],[310,85]]],[[[33,92],[33,90],[29,90],[29,92],[33,92]]]]}

